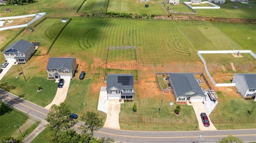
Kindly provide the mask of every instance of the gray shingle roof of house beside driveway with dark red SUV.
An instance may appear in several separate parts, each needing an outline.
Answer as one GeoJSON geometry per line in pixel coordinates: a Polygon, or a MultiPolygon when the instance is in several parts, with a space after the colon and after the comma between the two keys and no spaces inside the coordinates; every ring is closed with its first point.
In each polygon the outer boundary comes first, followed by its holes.
{"type": "Polygon", "coordinates": [[[176,92],[177,97],[186,96],[186,97],[193,97],[193,96],[203,96],[206,97],[204,92],[202,91],[201,87],[199,86],[194,74],[192,73],[168,73],[169,78],[172,82],[173,88],[176,92]],[[191,95],[184,95],[187,92],[197,92],[191,95]]]}

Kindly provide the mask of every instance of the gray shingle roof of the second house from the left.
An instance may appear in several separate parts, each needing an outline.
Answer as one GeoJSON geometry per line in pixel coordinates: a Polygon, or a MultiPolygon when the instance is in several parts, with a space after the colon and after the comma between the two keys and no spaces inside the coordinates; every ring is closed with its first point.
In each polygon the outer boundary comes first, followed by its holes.
{"type": "Polygon", "coordinates": [[[72,70],[72,63],[76,62],[76,58],[73,57],[52,57],[49,58],[46,69],[68,69],[72,70]]]}

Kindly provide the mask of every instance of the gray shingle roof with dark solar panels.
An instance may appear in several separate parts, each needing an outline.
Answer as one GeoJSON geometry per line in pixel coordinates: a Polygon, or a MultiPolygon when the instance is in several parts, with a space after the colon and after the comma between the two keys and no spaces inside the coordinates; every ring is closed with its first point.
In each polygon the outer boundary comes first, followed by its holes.
{"type": "Polygon", "coordinates": [[[112,87],[119,90],[133,89],[133,74],[108,74],[106,90],[112,87]]]}

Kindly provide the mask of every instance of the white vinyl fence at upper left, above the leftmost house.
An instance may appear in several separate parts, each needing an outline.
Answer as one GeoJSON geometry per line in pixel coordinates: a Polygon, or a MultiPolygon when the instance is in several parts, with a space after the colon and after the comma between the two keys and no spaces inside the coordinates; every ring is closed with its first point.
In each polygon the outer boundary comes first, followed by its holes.
{"type": "MultiPolygon", "coordinates": [[[[40,18],[42,18],[43,16],[45,16],[45,15],[46,15],[46,12],[38,13],[38,14],[39,14],[39,17],[38,17],[38,18],[35,18],[34,20],[31,20],[31,21],[28,22],[27,24],[15,25],[15,26],[9,26],[9,27],[3,27],[3,28],[0,28],[0,31],[6,30],[6,29],[13,29],[13,28],[26,27],[26,26],[32,24],[33,22],[35,22],[36,20],[39,20],[40,18]]],[[[5,17],[5,18],[0,18],[0,20],[10,20],[10,19],[16,19],[16,18],[32,17],[32,16],[36,16],[36,14],[29,14],[29,15],[24,15],[24,16],[5,17]]]]}

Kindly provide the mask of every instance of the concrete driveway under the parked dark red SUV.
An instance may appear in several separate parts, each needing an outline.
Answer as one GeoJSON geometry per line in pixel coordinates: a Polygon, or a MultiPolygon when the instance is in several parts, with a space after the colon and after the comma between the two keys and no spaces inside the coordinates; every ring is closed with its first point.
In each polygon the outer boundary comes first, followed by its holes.
{"type": "Polygon", "coordinates": [[[200,131],[217,130],[216,127],[212,124],[211,119],[209,117],[209,114],[206,112],[206,109],[204,107],[204,104],[202,102],[195,102],[195,103],[191,103],[191,104],[194,108],[194,112],[195,112],[196,118],[198,120],[199,130],[200,131]],[[203,124],[202,119],[200,117],[201,113],[206,113],[207,114],[208,119],[210,121],[210,127],[204,127],[204,124],[203,124]]]}

